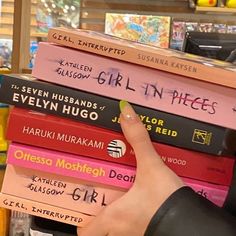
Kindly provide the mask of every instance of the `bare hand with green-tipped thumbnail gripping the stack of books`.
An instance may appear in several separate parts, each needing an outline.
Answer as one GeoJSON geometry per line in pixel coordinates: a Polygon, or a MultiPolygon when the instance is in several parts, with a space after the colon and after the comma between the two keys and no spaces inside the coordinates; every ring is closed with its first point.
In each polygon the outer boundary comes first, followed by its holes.
{"type": "Polygon", "coordinates": [[[154,149],[149,134],[131,105],[120,102],[120,123],[134,149],[137,169],[133,186],[121,198],[106,206],[79,236],[141,236],[155,212],[182,180],[170,170],[154,149]]]}

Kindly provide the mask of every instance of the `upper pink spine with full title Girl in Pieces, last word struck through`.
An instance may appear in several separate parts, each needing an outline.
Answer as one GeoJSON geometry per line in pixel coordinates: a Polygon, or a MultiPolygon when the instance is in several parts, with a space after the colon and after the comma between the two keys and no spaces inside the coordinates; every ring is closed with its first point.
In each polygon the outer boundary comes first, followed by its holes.
{"type": "Polygon", "coordinates": [[[48,82],[236,129],[236,92],[228,87],[50,43],[40,43],[32,74],[48,82]]]}

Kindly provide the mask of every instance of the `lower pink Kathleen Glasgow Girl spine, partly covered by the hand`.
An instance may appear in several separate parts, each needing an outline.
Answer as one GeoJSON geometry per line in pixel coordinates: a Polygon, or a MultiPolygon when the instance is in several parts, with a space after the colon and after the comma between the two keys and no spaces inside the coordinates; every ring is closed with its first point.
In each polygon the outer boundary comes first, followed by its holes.
{"type": "Polygon", "coordinates": [[[1,191],[92,216],[125,193],[111,187],[91,185],[75,178],[11,164],[7,165],[1,191]]]}

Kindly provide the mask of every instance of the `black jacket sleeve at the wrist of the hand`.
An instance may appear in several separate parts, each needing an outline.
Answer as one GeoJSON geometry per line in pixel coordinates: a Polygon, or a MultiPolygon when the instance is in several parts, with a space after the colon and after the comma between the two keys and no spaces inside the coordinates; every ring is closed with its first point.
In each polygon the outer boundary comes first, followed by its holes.
{"type": "Polygon", "coordinates": [[[236,218],[190,187],[174,192],[152,217],[145,236],[236,236],[236,218]]]}

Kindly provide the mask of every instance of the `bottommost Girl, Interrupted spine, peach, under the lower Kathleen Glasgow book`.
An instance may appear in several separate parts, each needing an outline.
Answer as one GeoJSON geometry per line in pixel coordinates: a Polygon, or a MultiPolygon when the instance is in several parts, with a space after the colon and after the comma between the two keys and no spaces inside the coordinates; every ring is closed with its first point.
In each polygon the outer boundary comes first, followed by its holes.
{"type": "Polygon", "coordinates": [[[94,216],[89,216],[37,201],[27,200],[21,197],[15,197],[5,193],[0,193],[0,207],[79,227],[86,226],[94,219],[94,216]]]}

